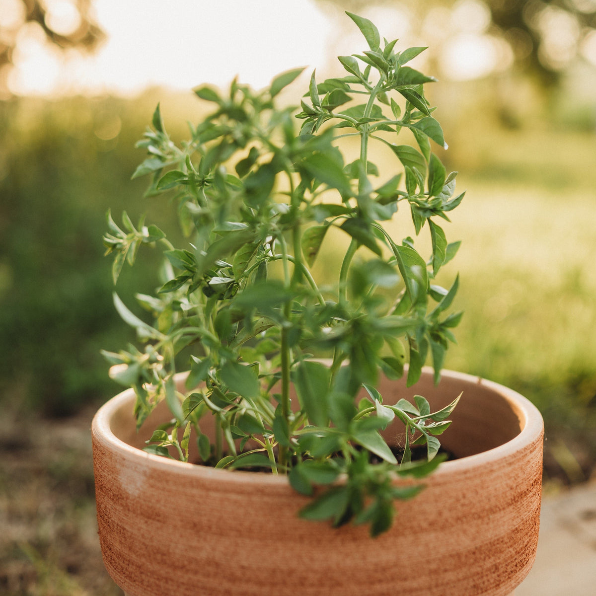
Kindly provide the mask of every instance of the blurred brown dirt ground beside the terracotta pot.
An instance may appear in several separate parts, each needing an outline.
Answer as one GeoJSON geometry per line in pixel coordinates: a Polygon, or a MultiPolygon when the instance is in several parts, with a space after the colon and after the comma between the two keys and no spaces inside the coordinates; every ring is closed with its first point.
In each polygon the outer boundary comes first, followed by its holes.
{"type": "MultiPolygon", "coordinates": [[[[123,595],[104,569],[97,538],[91,457],[95,409],[60,420],[34,421],[3,406],[0,594],[123,595]]],[[[552,445],[561,449],[560,442],[552,445]]],[[[575,464],[561,467],[564,458],[554,457],[549,442],[545,446],[547,489],[569,484],[570,470],[574,465],[579,468],[580,458],[567,449],[567,459],[575,464]]],[[[581,463],[577,479],[587,479],[594,462],[581,463]]]]}

